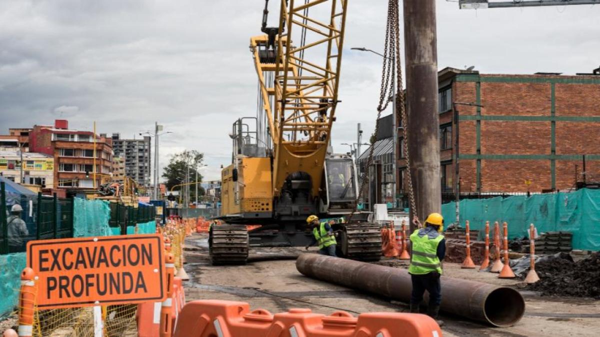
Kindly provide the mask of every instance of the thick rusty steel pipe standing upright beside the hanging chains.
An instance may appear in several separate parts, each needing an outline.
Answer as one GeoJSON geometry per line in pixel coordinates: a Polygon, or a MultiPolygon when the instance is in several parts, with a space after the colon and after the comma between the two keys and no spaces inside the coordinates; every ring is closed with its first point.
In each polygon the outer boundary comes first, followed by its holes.
{"type": "MultiPolygon", "coordinates": [[[[437,107],[436,1],[404,0],[410,173],[421,221],[442,208],[437,107]]],[[[406,123],[408,122],[408,123],[406,123]]],[[[415,229],[411,222],[410,231],[415,229]]]]}

